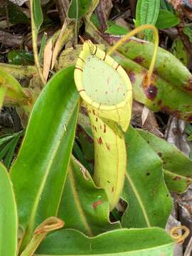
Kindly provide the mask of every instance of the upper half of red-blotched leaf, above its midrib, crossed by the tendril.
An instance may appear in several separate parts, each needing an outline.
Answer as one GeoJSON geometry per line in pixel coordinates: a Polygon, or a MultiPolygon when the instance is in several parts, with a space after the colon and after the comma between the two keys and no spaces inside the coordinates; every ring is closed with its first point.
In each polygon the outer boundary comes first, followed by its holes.
{"type": "MultiPolygon", "coordinates": [[[[154,44],[132,39],[121,46],[118,51],[142,67],[149,68],[154,44]]],[[[161,47],[158,48],[154,73],[180,90],[187,92],[192,90],[191,73],[174,55],[161,47]]]]}

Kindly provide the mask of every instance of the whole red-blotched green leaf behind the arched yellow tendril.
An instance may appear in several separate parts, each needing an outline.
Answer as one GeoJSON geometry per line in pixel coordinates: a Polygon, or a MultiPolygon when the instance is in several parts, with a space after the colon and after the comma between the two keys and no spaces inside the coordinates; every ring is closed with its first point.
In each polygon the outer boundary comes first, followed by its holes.
{"type": "Polygon", "coordinates": [[[123,55],[113,56],[132,81],[134,100],[155,112],[166,112],[192,122],[192,75],[174,55],[158,49],[154,80],[145,88],[142,81],[151,63],[154,44],[131,39],[118,50],[123,55]]]}

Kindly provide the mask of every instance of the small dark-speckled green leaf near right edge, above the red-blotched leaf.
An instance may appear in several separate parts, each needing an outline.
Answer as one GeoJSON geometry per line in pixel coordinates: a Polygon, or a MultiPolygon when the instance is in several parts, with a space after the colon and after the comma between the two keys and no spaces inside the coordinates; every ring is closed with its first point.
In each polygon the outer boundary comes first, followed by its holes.
{"type": "Polygon", "coordinates": [[[178,60],[183,63],[183,65],[188,65],[188,54],[183,41],[180,38],[176,38],[171,46],[171,53],[178,58],[178,60]]]}

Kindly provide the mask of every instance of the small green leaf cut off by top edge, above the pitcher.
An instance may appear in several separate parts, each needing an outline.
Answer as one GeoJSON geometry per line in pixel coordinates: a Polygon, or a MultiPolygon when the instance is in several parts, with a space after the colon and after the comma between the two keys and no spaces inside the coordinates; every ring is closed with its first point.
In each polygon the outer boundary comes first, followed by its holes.
{"type": "Polygon", "coordinates": [[[91,0],[72,0],[68,11],[69,18],[81,18],[85,16],[91,4],[91,0]],[[77,14],[78,11],[78,14],[77,14]]]}

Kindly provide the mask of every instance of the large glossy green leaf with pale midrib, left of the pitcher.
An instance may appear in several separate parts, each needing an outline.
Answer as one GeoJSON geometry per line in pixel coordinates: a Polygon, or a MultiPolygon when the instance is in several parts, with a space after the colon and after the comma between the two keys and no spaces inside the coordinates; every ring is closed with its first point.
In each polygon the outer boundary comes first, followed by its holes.
{"type": "Polygon", "coordinates": [[[36,101],[11,168],[18,215],[26,231],[21,250],[43,220],[58,213],[78,115],[74,67],[60,70],[36,101]]]}

